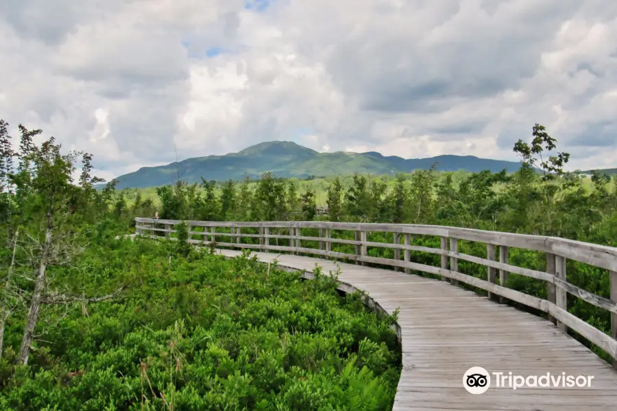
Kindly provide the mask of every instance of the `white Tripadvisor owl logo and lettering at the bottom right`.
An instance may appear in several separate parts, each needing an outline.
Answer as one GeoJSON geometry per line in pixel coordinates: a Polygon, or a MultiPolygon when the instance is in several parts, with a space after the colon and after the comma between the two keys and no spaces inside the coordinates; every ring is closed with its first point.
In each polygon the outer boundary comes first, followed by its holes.
{"type": "Polygon", "coordinates": [[[510,373],[489,373],[481,366],[472,366],[463,374],[463,387],[468,393],[471,394],[483,394],[491,386],[491,375],[494,377],[493,386],[497,388],[551,388],[551,387],[564,387],[564,388],[590,388],[593,375],[566,375],[546,373],[542,375],[528,375],[524,377],[522,375],[513,375],[510,373]]]}

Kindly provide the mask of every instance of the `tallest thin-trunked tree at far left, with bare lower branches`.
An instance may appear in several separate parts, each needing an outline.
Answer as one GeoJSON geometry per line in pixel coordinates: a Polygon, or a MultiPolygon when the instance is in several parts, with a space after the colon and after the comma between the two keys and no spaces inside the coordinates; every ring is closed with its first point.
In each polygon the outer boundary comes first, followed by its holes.
{"type": "MultiPolygon", "coordinates": [[[[64,305],[81,301],[101,301],[116,295],[106,297],[86,298],[82,295],[73,297],[67,292],[58,292],[55,277],[50,275],[49,267],[53,265],[68,265],[71,260],[85,248],[84,231],[81,217],[75,213],[75,204],[83,201],[86,194],[90,195],[87,186],[99,179],[90,177],[88,161],[90,155],[84,155],[85,166],[80,177],[80,185],[74,184],[73,173],[75,163],[80,154],[71,151],[62,154],[61,146],[51,137],[40,147],[34,145],[32,137],[40,134],[40,130],[30,131],[19,125],[21,144],[19,150],[19,166],[16,173],[10,173],[9,181],[15,188],[14,201],[16,214],[14,223],[19,226],[12,243],[12,260],[5,279],[5,294],[2,303],[3,319],[8,318],[10,308],[8,300],[11,295],[27,296],[29,302],[21,347],[19,362],[27,364],[29,352],[32,349],[34,334],[40,319],[40,308],[43,305],[64,305]],[[23,234],[22,234],[23,231],[23,234]],[[17,264],[17,235],[24,238],[21,249],[22,262],[20,266],[29,266],[32,288],[16,289],[12,285],[12,272],[17,264]],[[51,287],[54,292],[50,292],[51,287]],[[9,290],[7,288],[14,288],[9,290]],[[14,291],[14,293],[13,293],[14,291]]],[[[102,196],[101,196],[102,197],[102,196]]],[[[107,205],[107,203],[106,203],[107,205]]],[[[51,271],[53,273],[53,271],[51,271]]],[[[64,284],[70,287],[72,284],[64,284]]]]}

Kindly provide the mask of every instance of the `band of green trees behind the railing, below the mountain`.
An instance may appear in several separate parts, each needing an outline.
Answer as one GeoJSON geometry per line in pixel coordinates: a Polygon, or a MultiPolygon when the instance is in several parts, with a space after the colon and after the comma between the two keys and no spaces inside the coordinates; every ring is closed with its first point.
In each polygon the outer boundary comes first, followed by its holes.
{"type": "MultiPolygon", "coordinates": [[[[548,155],[556,140],[533,127],[530,143],[514,151],[516,173],[454,173],[435,168],[396,176],[354,175],[346,186],[336,178],[326,192],[327,216],[317,215],[315,190],[300,190],[293,179],[265,173],[257,182],[178,182],[157,188],[162,219],[202,221],[285,221],[326,219],[365,223],[451,225],[505,232],[561,236],[598,244],[617,241],[617,190],[611,177],[594,173],[592,187],[577,173],[564,172],[568,153],[548,155]],[[543,160],[544,155],[544,160],[543,160]]],[[[117,211],[128,219],[154,216],[157,207],[141,195],[130,208],[121,195],[117,211]],[[141,214],[140,214],[141,213],[141,214]]]]}

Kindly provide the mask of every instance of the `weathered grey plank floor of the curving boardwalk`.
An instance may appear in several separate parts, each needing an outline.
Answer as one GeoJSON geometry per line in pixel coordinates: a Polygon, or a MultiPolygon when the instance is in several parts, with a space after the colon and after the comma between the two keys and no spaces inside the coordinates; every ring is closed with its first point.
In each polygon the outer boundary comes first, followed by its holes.
{"type": "MultiPolygon", "coordinates": [[[[219,249],[224,256],[240,251],[219,249]]],[[[394,410],[617,411],[617,372],[553,323],[489,301],[448,282],[288,254],[254,253],[262,262],[325,273],[365,290],[391,313],[400,308],[402,373],[394,410]],[[508,375],[592,375],[590,388],[497,388],[472,395],[472,366],[508,375]]]]}

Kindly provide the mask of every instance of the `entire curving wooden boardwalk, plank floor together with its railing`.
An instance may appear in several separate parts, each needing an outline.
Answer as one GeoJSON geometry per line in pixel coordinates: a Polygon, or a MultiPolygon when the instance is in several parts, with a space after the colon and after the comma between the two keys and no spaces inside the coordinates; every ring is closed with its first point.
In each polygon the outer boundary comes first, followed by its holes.
{"type": "MultiPolygon", "coordinates": [[[[137,234],[169,235],[177,223],[180,221],[136,219],[137,234]]],[[[399,308],[403,368],[394,410],[617,410],[617,372],[566,333],[574,330],[617,359],[615,248],[428,225],[187,223],[195,244],[217,247],[217,252],[230,257],[241,254],[239,249],[252,249],[262,262],[276,260],[280,266],[300,271],[313,271],[315,264],[325,272],[340,268],[341,282],[365,290],[387,312],[399,308]],[[388,234],[392,242],[369,241],[376,232],[388,234]],[[344,238],[349,235],[354,239],[344,238]],[[437,236],[441,247],[412,245],[413,236],[437,236]],[[484,243],[486,258],[459,253],[463,240],[484,243]],[[354,252],[332,251],[333,244],[349,246],[354,252]],[[394,258],[369,256],[372,248],[391,249],[394,258]],[[511,248],[544,253],[546,271],[509,264],[511,248]],[[437,254],[440,264],[412,262],[411,252],[437,254]],[[570,284],[566,259],[607,270],[611,298],[570,284]],[[461,273],[459,260],[485,266],[486,277],[461,273]],[[439,275],[445,281],[405,271],[439,275]],[[543,280],[547,299],[507,288],[509,273],[543,280]],[[460,283],[489,295],[483,297],[456,286],[460,283]],[[612,335],[570,314],[568,293],[609,311],[612,335]],[[544,312],[555,324],[500,303],[507,300],[544,312]],[[474,367],[481,369],[478,372],[474,367]]]]}

